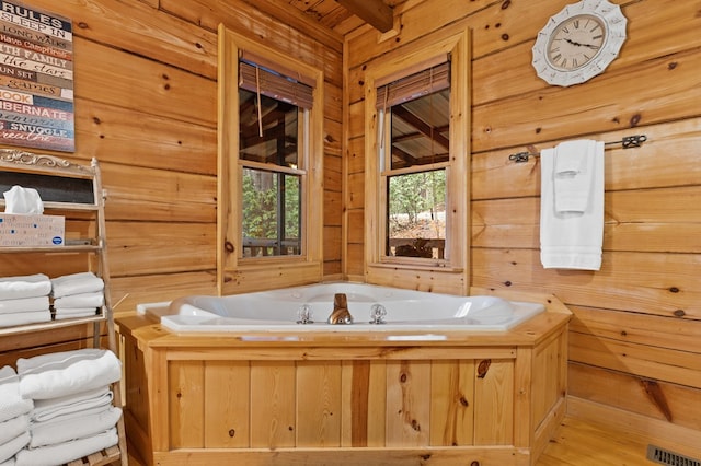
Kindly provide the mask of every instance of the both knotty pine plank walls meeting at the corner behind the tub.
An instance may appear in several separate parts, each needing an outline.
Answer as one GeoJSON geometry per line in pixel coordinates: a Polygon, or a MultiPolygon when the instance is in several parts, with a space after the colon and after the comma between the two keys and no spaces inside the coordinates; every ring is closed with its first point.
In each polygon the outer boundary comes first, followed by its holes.
{"type": "Polygon", "coordinates": [[[629,19],[621,56],[605,74],[559,89],[536,77],[530,47],[567,0],[409,0],[397,7],[395,37],[378,44],[377,33],[353,31],[345,57],[337,34],[243,0],[30,1],[73,20],[71,158],[102,163],[112,294],[126,296],[116,311],[216,291],[219,22],[324,67],[330,278],[363,275],[363,63],[463,22],[473,28],[472,284],[552,292],[574,311],[572,395],[701,431],[701,3],[614,2],[629,19]],[[650,138],[643,148],[607,151],[601,271],[543,270],[539,165],[508,154],[637,132],[650,138]]]}

